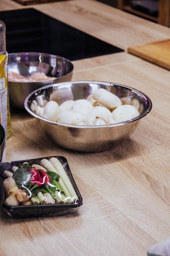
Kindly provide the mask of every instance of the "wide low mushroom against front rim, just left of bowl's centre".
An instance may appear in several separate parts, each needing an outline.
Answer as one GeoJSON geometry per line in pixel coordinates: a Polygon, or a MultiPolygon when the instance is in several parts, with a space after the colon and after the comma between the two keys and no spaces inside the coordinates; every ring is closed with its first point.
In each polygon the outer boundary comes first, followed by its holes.
{"type": "Polygon", "coordinates": [[[79,122],[85,123],[86,117],[82,113],[65,110],[58,114],[57,122],[76,125],[79,122]]]}

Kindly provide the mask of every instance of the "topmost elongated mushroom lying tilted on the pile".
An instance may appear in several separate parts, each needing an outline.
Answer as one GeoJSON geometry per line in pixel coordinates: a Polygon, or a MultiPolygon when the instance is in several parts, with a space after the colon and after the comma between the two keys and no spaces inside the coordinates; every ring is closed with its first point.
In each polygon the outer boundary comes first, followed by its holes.
{"type": "Polygon", "coordinates": [[[99,88],[93,92],[93,99],[110,110],[121,106],[121,100],[115,94],[103,88],[99,88]]]}

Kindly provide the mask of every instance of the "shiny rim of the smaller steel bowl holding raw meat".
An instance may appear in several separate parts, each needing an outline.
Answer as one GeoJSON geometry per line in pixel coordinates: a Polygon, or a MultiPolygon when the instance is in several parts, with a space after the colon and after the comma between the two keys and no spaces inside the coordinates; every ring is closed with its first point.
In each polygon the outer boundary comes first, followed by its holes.
{"type": "MultiPolygon", "coordinates": [[[[73,69],[74,69],[74,65],[73,65],[73,63],[72,63],[72,61],[70,61],[68,58],[65,58],[65,57],[63,57],[63,56],[60,56],[60,55],[55,55],[55,54],[49,54],[49,53],[44,53],[44,52],[13,52],[13,53],[9,53],[8,54],[8,61],[9,61],[9,56],[15,56],[16,54],[25,54],[25,55],[44,55],[44,56],[51,56],[51,57],[54,57],[54,58],[56,58],[56,57],[59,57],[59,58],[61,58],[61,59],[63,59],[63,60],[65,60],[65,61],[67,61],[68,63],[70,63],[70,65],[71,65],[71,71],[70,72],[68,72],[67,74],[65,74],[64,76],[68,76],[68,74],[70,74],[71,72],[73,72],[73,69]]],[[[18,74],[18,73],[17,73],[18,74]]],[[[64,77],[64,76],[62,76],[62,77],[64,77]]],[[[60,76],[61,77],[61,76],[60,76]]],[[[47,79],[47,80],[45,80],[45,81],[54,81],[55,82],[55,80],[57,81],[58,79],[60,79],[60,77],[55,77],[55,78],[53,78],[53,79],[47,79]]],[[[42,81],[34,81],[34,82],[31,82],[31,81],[26,81],[26,82],[21,82],[21,83],[42,83],[44,80],[42,80],[42,81]]],[[[20,83],[20,81],[9,81],[8,83],[20,83]]]]}

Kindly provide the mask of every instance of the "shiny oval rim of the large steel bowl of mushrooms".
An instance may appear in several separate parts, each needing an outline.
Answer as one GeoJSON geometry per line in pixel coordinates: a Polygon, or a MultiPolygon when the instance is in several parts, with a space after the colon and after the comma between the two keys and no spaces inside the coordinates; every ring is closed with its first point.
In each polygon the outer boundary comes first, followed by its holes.
{"type": "Polygon", "coordinates": [[[134,121],[137,121],[137,120],[140,120],[141,118],[145,117],[146,115],[148,115],[148,113],[151,111],[152,109],[152,101],[151,99],[146,95],[144,94],[143,92],[135,89],[135,88],[132,88],[132,87],[129,87],[129,86],[126,86],[126,85],[122,85],[122,84],[119,84],[119,83],[113,83],[113,82],[103,82],[103,81],[68,81],[68,82],[61,82],[61,83],[55,83],[55,84],[51,84],[51,85],[46,85],[46,86],[43,86],[37,90],[34,90],[33,92],[31,92],[24,100],[24,108],[25,110],[30,114],[32,115],[33,117],[37,118],[37,119],[40,119],[41,121],[44,121],[46,123],[51,123],[51,124],[55,124],[57,126],[64,126],[64,127],[69,127],[69,128],[82,128],[82,129],[85,129],[85,128],[109,128],[109,127],[115,127],[115,126],[121,126],[121,125],[124,125],[124,124],[129,124],[129,123],[132,123],[134,121]],[[46,88],[49,88],[49,87],[58,87],[60,85],[68,85],[68,84],[77,84],[77,83],[98,83],[98,84],[106,84],[106,85],[116,85],[116,86],[120,86],[120,87],[123,87],[123,88],[126,88],[128,90],[131,90],[131,91],[134,91],[136,92],[137,94],[141,94],[141,96],[143,98],[146,99],[146,102],[147,102],[147,109],[139,116],[133,118],[133,119],[130,119],[130,120],[127,120],[127,121],[123,121],[123,122],[119,122],[119,123],[115,123],[115,124],[106,124],[106,125],[98,125],[98,126],[85,126],[85,125],[73,125],[73,124],[63,124],[63,123],[60,123],[60,122],[55,122],[55,121],[51,121],[51,120],[48,120],[48,119],[45,119],[44,117],[40,117],[39,115],[36,115],[30,108],[29,108],[29,98],[37,93],[37,92],[40,92],[46,88]]]}

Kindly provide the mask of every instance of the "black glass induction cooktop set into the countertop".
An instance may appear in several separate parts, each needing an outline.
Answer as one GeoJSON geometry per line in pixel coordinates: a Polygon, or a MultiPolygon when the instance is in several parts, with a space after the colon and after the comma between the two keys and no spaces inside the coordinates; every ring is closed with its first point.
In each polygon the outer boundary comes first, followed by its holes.
{"type": "Polygon", "coordinates": [[[33,8],[0,11],[0,20],[8,53],[44,52],[73,61],[124,51],[33,8]]]}

